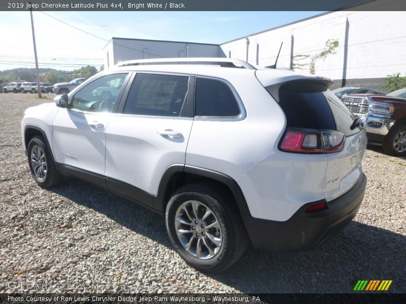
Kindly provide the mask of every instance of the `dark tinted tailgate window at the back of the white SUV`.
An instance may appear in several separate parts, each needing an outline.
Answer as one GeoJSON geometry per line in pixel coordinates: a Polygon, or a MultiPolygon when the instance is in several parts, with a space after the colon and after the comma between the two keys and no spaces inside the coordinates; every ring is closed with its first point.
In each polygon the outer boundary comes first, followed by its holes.
{"type": "MultiPolygon", "coordinates": [[[[273,88],[267,90],[270,93],[273,88]]],[[[280,86],[276,99],[285,113],[287,128],[339,130],[347,136],[361,130],[350,129],[355,117],[323,83],[308,80],[286,83],[280,86]]]]}

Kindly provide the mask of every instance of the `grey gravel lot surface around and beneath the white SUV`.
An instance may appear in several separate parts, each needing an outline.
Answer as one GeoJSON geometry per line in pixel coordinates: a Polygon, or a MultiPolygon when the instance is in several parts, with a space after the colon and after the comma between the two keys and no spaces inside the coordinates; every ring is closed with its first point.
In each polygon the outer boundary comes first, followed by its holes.
{"type": "Polygon", "coordinates": [[[36,96],[0,94],[0,293],[27,292],[26,283],[40,285],[31,292],[351,292],[360,279],[393,280],[390,291],[406,292],[405,158],[368,147],[359,213],[323,246],[248,249],[207,276],[171,248],[161,216],[76,179],[50,191],[36,185],[20,135],[24,109],[47,102],[36,96]]]}

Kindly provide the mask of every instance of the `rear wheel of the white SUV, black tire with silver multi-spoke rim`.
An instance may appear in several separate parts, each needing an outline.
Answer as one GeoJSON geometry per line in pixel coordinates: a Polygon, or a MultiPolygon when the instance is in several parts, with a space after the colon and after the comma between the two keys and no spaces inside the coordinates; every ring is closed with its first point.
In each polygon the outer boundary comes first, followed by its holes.
{"type": "Polygon", "coordinates": [[[176,251],[202,272],[227,269],[247,248],[247,233],[233,198],[216,184],[179,188],[166,206],[165,222],[176,251]]]}

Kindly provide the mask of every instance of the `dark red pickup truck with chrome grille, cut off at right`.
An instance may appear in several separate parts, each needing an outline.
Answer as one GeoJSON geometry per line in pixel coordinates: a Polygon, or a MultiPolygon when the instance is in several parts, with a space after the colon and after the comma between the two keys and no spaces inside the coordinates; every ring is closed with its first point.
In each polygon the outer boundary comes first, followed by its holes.
{"type": "Polygon", "coordinates": [[[362,119],[369,142],[382,143],[386,154],[406,156],[406,99],[350,94],[341,101],[362,119]]]}

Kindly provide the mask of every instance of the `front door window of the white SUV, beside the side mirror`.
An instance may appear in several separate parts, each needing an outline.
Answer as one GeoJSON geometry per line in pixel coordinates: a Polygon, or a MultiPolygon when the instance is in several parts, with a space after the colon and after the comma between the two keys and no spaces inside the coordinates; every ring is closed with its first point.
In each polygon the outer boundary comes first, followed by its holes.
{"type": "Polygon", "coordinates": [[[81,88],[72,98],[71,108],[90,112],[111,112],[128,73],[100,77],[81,88]]]}

